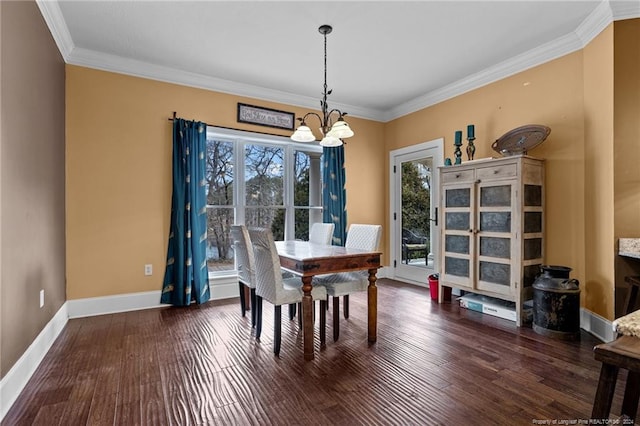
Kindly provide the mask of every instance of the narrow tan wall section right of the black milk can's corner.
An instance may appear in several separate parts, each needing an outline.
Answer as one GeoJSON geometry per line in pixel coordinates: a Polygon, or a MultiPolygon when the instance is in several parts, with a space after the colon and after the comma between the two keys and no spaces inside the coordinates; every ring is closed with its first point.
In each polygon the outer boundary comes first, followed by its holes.
{"type": "Polygon", "coordinates": [[[584,49],[585,306],[612,319],[613,292],[613,26],[584,49]]]}

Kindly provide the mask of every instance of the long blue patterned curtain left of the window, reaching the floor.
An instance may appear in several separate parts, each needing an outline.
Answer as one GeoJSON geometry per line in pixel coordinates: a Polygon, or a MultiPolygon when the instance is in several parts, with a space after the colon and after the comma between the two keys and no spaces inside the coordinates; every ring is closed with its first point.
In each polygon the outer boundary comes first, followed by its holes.
{"type": "Polygon", "coordinates": [[[161,303],[188,306],[209,300],[205,123],[173,120],[173,195],[161,303]]]}

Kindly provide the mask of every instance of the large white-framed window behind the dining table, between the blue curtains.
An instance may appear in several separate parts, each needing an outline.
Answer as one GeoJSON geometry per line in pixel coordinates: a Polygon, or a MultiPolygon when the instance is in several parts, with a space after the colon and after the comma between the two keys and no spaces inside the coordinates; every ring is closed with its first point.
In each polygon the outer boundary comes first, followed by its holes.
{"type": "Polygon", "coordinates": [[[207,130],[207,264],[212,276],[234,270],[229,227],[271,228],[276,240],[307,239],[322,222],[317,144],[207,130]]]}

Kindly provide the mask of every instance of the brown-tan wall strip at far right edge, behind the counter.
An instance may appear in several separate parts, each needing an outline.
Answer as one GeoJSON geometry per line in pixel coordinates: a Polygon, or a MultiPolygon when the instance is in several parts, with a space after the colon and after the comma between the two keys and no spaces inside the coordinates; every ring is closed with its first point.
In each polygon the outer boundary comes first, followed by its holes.
{"type": "MultiPolygon", "coordinates": [[[[640,19],[615,22],[613,33],[615,253],[618,238],[640,238],[640,19]]],[[[640,261],[615,256],[615,271],[618,317],[627,292],[624,277],[640,275],[640,261]]]]}

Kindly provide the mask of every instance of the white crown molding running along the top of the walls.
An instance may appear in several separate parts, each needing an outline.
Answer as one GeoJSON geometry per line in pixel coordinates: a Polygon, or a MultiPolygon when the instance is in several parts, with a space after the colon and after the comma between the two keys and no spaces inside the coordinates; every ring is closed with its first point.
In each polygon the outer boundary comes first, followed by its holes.
{"type": "MultiPolygon", "coordinates": [[[[36,1],[60,53],[69,64],[318,110],[316,98],[76,48],[57,1],[36,1]]],[[[637,0],[604,0],[575,31],[390,110],[382,111],[347,104],[334,104],[334,107],[348,111],[350,116],[388,122],[584,48],[613,21],[638,16],[640,2],[637,0]]]]}

